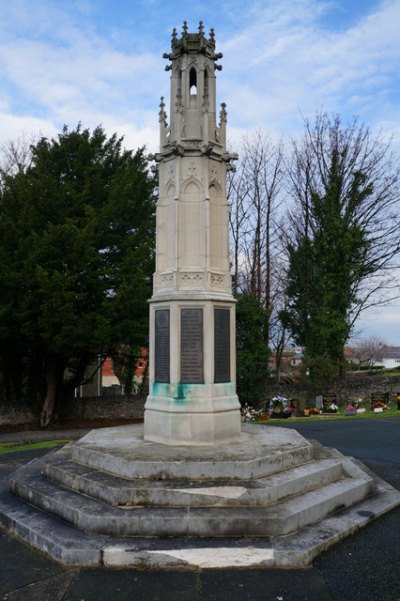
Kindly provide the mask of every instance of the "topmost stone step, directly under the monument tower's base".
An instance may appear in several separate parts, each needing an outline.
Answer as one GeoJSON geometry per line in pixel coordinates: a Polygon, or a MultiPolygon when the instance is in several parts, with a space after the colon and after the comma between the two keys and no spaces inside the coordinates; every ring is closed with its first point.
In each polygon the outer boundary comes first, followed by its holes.
{"type": "Polygon", "coordinates": [[[133,425],[89,432],[69,446],[73,461],[129,479],[250,480],[314,458],[313,445],[298,432],[249,424],[237,444],[162,445],[144,441],[142,426],[133,425]]]}

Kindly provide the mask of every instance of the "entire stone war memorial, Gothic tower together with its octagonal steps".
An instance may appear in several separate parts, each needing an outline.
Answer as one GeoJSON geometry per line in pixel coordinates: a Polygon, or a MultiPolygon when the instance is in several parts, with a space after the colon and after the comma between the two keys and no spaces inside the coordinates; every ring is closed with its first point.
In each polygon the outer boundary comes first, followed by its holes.
{"type": "Polygon", "coordinates": [[[144,424],[93,430],[15,471],[0,523],[65,565],[305,567],[400,493],[295,430],[241,424],[222,54],[213,30],[184,23],[164,58],[144,424]]]}

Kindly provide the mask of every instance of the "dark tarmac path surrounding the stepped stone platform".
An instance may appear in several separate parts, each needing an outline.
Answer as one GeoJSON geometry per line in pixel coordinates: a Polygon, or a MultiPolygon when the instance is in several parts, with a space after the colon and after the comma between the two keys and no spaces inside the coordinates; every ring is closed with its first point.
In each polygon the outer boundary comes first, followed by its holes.
{"type": "MultiPolygon", "coordinates": [[[[399,418],[282,426],[357,457],[400,489],[399,418]]],[[[46,452],[0,456],[0,478],[46,452]]],[[[0,600],[400,601],[400,508],[320,555],[313,568],[290,571],[66,569],[0,530],[0,600]]]]}

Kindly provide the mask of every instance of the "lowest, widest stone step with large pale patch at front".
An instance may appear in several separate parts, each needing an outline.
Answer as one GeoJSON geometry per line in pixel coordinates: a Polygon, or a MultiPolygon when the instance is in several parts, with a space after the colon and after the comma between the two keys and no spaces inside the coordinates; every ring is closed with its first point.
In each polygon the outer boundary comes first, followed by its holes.
{"type": "Polygon", "coordinates": [[[17,498],[0,482],[0,525],[69,566],[138,569],[304,568],[400,503],[400,492],[374,475],[376,492],[351,508],[283,537],[118,538],[88,535],[17,498]],[[216,562],[216,558],[218,561],[216,562]]]}

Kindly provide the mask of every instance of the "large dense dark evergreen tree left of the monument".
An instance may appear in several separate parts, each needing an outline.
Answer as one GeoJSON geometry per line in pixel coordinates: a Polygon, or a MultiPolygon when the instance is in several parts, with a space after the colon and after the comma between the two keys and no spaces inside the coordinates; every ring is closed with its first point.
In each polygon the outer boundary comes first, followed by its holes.
{"type": "Polygon", "coordinates": [[[0,356],[6,390],[41,399],[45,425],[66,380],[146,340],[154,181],[143,151],[101,127],[64,127],[31,151],[0,196],[0,356]]]}

